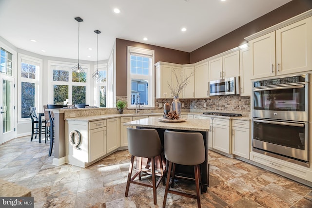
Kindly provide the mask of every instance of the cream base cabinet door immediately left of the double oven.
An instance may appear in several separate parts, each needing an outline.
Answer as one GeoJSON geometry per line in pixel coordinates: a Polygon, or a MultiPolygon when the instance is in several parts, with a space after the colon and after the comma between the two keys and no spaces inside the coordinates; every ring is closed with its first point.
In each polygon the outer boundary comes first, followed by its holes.
{"type": "Polygon", "coordinates": [[[233,154],[249,159],[249,129],[232,127],[233,154]]]}

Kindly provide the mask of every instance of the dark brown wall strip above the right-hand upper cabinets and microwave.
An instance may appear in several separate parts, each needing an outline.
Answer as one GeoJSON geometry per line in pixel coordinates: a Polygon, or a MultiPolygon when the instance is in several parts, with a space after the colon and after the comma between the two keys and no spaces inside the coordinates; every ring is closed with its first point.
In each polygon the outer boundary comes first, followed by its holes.
{"type": "Polygon", "coordinates": [[[292,0],[272,12],[191,52],[190,63],[196,63],[235,48],[243,43],[247,43],[244,38],[310,9],[312,9],[312,0],[292,0]]]}

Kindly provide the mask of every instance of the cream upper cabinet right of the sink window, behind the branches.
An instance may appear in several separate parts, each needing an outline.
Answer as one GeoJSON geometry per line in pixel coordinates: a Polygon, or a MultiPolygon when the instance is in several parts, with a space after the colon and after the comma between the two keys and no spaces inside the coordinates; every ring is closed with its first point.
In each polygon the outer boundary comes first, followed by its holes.
{"type": "MultiPolygon", "coordinates": [[[[182,75],[182,65],[166,62],[157,62],[155,64],[156,98],[168,98],[173,96],[168,87],[168,83],[172,85],[176,84],[174,72],[177,77],[180,77],[182,75]]],[[[182,98],[182,96],[181,94],[179,98],[182,98]]]]}

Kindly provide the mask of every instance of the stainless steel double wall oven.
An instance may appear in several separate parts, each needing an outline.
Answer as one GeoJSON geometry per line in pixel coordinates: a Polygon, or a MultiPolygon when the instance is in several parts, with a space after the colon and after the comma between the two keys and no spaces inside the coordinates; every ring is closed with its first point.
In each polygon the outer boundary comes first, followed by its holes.
{"type": "Polygon", "coordinates": [[[253,151],[309,167],[309,74],[253,81],[253,151]]]}

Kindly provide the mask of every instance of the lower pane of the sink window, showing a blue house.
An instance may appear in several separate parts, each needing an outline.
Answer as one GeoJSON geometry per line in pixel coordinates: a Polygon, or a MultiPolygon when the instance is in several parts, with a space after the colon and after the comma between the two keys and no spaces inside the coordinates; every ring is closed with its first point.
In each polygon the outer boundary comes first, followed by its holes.
{"type": "MultiPolygon", "coordinates": [[[[131,92],[132,92],[132,98],[133,96],[137,97],[137,103],[140,103],[140,105],[148,105],[148,81],[144,79],[133,79],[131,81],[131,92]],[[142,91],[140,91],[142,90],[142,91]]],[[[131,104],[136,105],[136,98],[131,99],[131,104]]]]}

